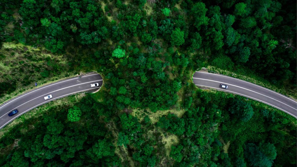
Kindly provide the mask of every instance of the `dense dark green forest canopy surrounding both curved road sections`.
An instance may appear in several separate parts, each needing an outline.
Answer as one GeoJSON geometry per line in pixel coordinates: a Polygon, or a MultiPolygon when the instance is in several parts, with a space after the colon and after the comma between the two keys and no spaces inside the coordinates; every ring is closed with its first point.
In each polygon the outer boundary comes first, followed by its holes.
{"type": "Polygon", "coordinates": [[[0,42],[44,46],[104,86],[12,128],[0,165],[296,166],[296,119],[191,81],[211,64],[296,89],[296,3],[2,2],[0,42]]]}

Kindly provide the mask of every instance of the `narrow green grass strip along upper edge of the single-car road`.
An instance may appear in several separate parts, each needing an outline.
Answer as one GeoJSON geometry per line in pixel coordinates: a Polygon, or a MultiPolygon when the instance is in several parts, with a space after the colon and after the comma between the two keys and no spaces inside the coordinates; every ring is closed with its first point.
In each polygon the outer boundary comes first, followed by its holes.
{"type": "MultiPolygon", "coordinates": [[[[226,61],[226,62],[223,62],[223,64],[230,64],[230,62],[226,61]]],[[[225,66],[225,65],[222,65],[222,66],[225,66]]],[[[244,81],[255,83],[257,85],[271,89],[275,92],[284,94],[288,97],[297,99],[297,94],[296,94],[297,88],[294,87],[293,85],[287,86],[287,84],[283,84],[282,86],[276,86],[276,85],[272,84],[271,82],[267,81],[266,79],[264,79],[262,76],[259,76],[256,73],[253,73],[251,70],[245,69],[243,67],[235,68],[235,70],[232,70],[233,72],[231,72],[231,69],[223,70],[221,68],[214,67],[214,66],[207,66],[206,68],[208,70],[214,71],[216,73],[220,73],[220,74],[227,75],[227,76],[230,76],[233,78],[238,78],[238,79],[241,79],[244,81]]]]}

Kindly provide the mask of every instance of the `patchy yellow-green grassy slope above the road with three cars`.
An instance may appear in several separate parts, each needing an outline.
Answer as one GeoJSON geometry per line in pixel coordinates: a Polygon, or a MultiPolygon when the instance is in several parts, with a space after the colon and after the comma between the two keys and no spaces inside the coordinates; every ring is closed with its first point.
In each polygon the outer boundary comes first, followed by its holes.
{"type": "Polygon", "coordinates": [[[53,55],[43,48],[33,48],[12,42],[0,50],[0,82],[13,82],[15,91],[0,94],[0,104],[26,90],[73,75],[62,54],[53,55]],[[2,97],[1,97],[2,96],[2,97]]]}

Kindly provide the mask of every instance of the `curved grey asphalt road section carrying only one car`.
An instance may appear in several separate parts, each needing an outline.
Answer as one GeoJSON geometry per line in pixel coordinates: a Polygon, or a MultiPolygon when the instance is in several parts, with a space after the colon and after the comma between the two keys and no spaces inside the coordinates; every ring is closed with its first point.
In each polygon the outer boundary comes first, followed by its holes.
{"type": "Polygon", "coordinates": [[[239,94],[241,96],[266,103],[297,118],[296,100],[270,89],[266,89],[262,86],[225,75],[202,71],[196,71],[196,73],[194,73],[193,82],[196,86],[205,86],[208,88],[239,94]],[[220,84],[228,85],[228,89],[220,88],[220,84]]]}

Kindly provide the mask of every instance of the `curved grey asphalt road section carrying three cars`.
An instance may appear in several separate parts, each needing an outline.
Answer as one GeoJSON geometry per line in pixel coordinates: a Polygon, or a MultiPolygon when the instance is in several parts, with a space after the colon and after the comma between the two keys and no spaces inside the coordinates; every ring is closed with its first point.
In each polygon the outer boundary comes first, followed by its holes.
{"type": "Polygon", "coordinates": [[[59,81],[39,89],[32,90],[26,94],[16,97],[7,103],[0,106],[0,129],[7,125],[18,116],[36,108],[39,105],[48,103],[50,101],[76,94],[80,92],[94,92],[102,86],[102,77],[97,73],[90,73],[83,75],[80,78],[75,77],[64,81],[59,81]],[[91,88],[91,83],[99,83],[98,87],[91,88]],[[44,100],[44,97],[52,94],[52,98],[44,100]],[[17,109],[18,113],[13,116],[8,116],[8,113],[17,109]]]}

